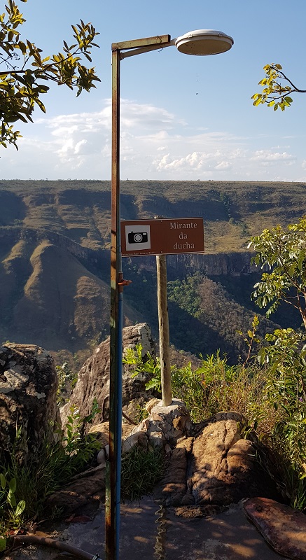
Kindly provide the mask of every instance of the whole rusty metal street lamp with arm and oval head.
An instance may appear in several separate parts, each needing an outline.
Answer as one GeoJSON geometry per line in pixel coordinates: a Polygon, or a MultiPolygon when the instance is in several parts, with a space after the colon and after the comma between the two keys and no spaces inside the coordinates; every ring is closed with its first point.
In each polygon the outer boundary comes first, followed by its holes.
{"type": "Polygon", "coordinates": [[[122,423],[123,279],[120,246],[120,60],[151,50],[176,46],[186,55],[216,55],[230,50],[234,41],[222,31],[197,29],[171,40],[160,35],[113,43],[111,147],[111,341],[109,393],[109,459],[106,461],[106,560],[119,551],[120,467],[122,423]]]}

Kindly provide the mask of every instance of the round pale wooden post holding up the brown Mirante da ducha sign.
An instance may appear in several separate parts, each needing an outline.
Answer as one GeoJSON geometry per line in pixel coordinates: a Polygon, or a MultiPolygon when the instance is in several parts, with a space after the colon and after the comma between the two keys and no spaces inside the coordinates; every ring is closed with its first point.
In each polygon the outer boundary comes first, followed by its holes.
{"type": "Polygon", "coordinates": [[[162,406],[172,403],[169,316],[167,304],[166,255],[156,255],[158,277],[158,327],[160,333],[160,372],[162,377],[162,406]]]}

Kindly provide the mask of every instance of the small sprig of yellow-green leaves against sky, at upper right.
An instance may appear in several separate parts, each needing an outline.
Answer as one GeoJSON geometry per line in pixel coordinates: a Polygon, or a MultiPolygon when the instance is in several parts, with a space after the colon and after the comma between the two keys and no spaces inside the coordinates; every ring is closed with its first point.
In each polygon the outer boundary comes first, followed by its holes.
{"type": "Polygon", "coordinates": [[[274,111],[277,111],[278,108],[284,111],[293,102],[292,97],[290,97],[292,93],[306,93],[306,90],[300,90],[284,74],[280,64],[266,64],[263,69],[265,78],[258,83],[258,85],[263,86],[263,92],[252,95],[253,105],[258,106],[263,103],[267,104],[268,107],[273,107],[274,111]]]}

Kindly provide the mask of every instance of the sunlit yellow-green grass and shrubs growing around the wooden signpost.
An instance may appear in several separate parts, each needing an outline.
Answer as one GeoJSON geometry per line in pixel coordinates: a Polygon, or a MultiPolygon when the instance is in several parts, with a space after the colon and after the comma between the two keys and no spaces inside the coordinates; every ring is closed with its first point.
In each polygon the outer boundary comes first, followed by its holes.
{"type": "MultiPolygon", "coordinates": [[[[161,391],[160,358],[148,355],[142,364],[141,345],[136,350],[129,349],[125,363],[134,365],[134,373],[151,373],[147,390],[161,391]]],[[[194,369],[191,363],[185,367],[172,365],[172,395],[183,400],[194,423],[209,418],[216,412],[235,410],[253,419],[263,398],[263,370],[256,364],[228,365],[226,357],[217,351],[202,358],[200,367],[194,369]]]]}

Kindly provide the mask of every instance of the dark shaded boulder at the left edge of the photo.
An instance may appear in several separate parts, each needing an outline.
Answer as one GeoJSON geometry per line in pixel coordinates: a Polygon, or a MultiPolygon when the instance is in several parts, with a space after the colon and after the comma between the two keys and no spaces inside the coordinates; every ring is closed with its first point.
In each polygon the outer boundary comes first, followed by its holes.
{"type": "Polygon", "coordinates": [[[0,459],[8,458],[20,430],[18,461],[35,459],[46,435],[60,426],[57,372],[52,356],[39,346],[0,347],[0,459]]]}

